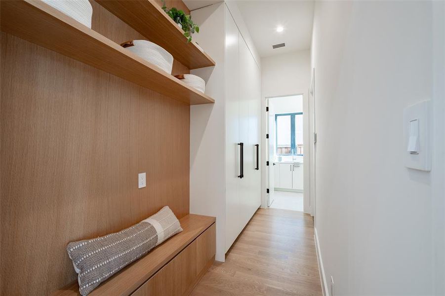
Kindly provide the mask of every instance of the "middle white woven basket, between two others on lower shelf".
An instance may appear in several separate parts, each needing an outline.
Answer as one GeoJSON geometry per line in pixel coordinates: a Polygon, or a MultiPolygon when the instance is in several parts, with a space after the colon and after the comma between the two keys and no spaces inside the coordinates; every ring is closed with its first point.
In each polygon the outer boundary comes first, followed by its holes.
{"type": "Polygon", "coordinates": [[[121,45],[144,60],[158,66],[168,74],[171,74],[173,56],[158,44],[147,40],[133,40],[124,42],[121,45]]]}

